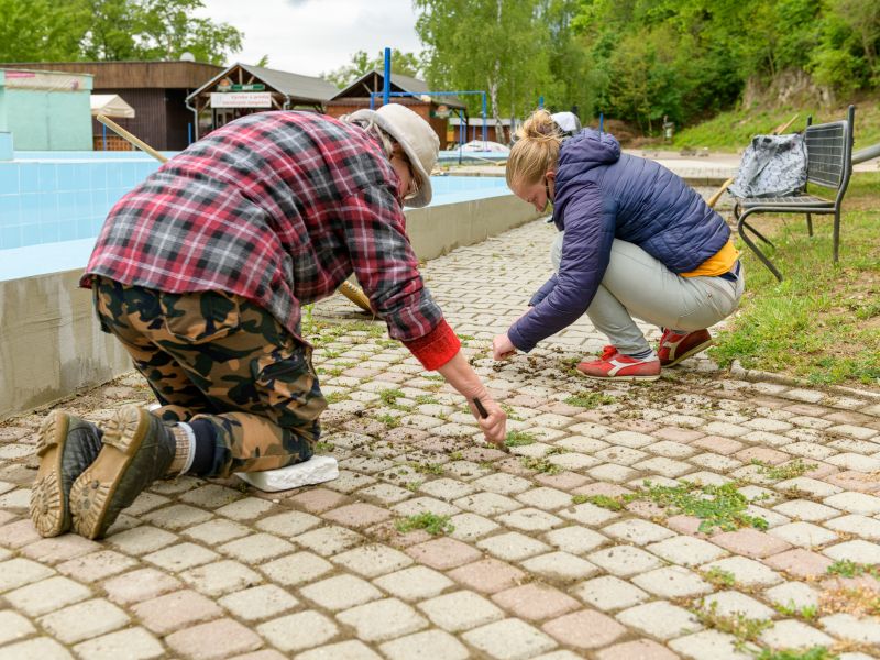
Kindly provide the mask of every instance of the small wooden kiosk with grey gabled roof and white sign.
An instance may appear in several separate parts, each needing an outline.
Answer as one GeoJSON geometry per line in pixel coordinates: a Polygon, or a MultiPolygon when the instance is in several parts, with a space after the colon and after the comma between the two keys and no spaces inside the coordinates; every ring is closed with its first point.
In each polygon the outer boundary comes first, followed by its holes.
{"type": "Polygon", "coordinates": [[[204,82],[186,100],[198,117],[198,139],[253,112],[297,108],[320,112],[338,91],[336,85],[323,78],[233,64],[204,82]]]}

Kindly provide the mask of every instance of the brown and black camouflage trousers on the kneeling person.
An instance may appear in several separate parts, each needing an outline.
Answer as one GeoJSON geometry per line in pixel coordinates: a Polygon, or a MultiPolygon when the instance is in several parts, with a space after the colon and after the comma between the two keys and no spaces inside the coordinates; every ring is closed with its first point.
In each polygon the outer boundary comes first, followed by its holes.
{"type": "Polygon", "coordinates": [[[258,472],[311,458],[327,408],[311,348],[268,312],[221,292],[166,294],[96,277],[95,309],[150,383],[167,421],[216,430],[211,472],[258,472]]]}

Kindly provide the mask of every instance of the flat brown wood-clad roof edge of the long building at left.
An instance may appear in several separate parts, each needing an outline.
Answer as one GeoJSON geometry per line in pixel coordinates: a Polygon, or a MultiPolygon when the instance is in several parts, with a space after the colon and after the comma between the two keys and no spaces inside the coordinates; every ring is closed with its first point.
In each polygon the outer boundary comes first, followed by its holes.
{"type": "Polygon", "coordinates": [[[91,74],[95,89],[196,89],[223,70],[205,62],[16,62],[0,68],[91,74]]]}

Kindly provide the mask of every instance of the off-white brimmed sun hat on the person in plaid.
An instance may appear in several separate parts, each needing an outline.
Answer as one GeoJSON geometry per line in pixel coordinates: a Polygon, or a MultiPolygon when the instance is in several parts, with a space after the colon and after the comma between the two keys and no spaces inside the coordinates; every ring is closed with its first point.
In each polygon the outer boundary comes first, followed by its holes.
{"type": "Polygon", "coordinates": [[[375,124],[394,138],[404,148],[418,179],[419,191],[406,205],[424,207],[431,202],[431,169],[437,164],[440,139],[430,124],[400,103],[387,103],[378,110],[358,110],[348,117],[349,121],[365,120],[375,124]]]}

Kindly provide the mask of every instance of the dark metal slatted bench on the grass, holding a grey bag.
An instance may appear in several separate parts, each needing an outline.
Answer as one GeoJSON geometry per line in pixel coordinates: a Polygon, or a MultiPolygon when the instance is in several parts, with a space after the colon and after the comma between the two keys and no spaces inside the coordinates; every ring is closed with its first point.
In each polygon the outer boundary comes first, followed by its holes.
{"type": "Polygon", "coordinates": [[[754,213],[804,213],[806,215],[806,229],[812,237],[812,215],[834,215],[834,261],[837,263],[840,244],[840,204],[849,184],[849,176],[853,174],[853,121],[855,116],[856,107],[850,106],[847,118],[840,121],[812,124],[812,118],[806,120],[804,143],[806,145],[807,185],[815,184],[834,189],[834,199],[809,195],[806,186],[804,186],[804,191],[799,195],[748,197],[736,200],[734,217],[737,220],[736,229],[739,235],[780,282],[782,282],[782,274],[755,244],[746,230],[771,248],[774,248],[773,243],[746,222],[746,218],[754,213]]]}

